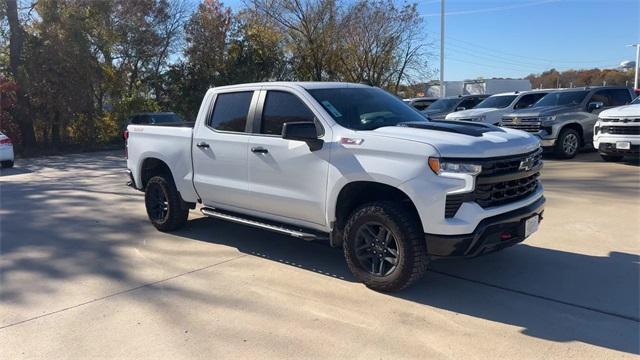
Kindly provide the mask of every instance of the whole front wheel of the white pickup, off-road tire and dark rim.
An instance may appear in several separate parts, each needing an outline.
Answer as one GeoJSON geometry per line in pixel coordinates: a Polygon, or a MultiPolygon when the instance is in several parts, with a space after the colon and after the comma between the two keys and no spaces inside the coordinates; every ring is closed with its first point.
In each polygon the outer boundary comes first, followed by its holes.
{"type": "Polygon", "coordinates": [[[427,270],[427,248],[419,219],[396,202],[358,208],[344,230],[344,255],[353,275],[377,291],[401,290],[427,270]]]}

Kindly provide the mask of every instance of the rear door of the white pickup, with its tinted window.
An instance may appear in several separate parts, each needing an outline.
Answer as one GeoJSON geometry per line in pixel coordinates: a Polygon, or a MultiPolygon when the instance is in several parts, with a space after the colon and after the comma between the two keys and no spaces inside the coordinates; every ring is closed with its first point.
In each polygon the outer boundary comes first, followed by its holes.
{"type": "Polygon", "coordinates": [[[258,91],[218,93],[193,135],[193,183],[205,205],[250,208],[247,151],[249,117],[258,91]]]}

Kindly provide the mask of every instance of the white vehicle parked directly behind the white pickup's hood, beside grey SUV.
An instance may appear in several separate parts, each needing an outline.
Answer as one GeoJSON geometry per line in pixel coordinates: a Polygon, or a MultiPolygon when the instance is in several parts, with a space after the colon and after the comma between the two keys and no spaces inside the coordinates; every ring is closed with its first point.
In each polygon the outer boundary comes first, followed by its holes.
{"type": "Polygon", "coordinates": [[[450,113],[446,119],[498,125],[504,114],[529,108],[550,92],[551,90],[532,90],[495,94],[484,99],[473,109],[450,113]]]}

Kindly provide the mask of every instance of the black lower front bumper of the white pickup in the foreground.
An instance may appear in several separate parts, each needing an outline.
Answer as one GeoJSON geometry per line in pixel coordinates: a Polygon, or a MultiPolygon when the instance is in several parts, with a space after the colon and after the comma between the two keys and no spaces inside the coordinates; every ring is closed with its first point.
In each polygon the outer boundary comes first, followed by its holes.
{"type": "Polygon", "coordinates": [[[471,234],[425,234],[427,253],[437,258],[475,257],[515,245],[525,239],[526,219],[538,215],[542,220],[544,203],[544,197],[540,197],[525,207],[486,218],[471,234]],[[504,233],[511,237],[503,239],[504,233]]]}

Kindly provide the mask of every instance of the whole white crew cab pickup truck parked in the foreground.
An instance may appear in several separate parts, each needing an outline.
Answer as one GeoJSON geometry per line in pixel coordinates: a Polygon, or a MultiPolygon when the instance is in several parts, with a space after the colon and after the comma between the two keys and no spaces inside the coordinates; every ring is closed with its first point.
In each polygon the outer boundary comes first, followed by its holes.
{"type": "Polygon", "coordinates": [[[210,217],[342,246],[354,276],[399,290],[432,258],[524,240],[544,209],[539,140],[492,125],[431,122],[358,84],[210,89],[192,127],[129,125],[130,185],[171,231],[210,217]]]}

